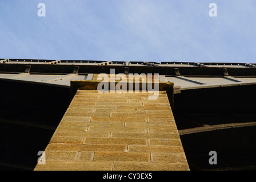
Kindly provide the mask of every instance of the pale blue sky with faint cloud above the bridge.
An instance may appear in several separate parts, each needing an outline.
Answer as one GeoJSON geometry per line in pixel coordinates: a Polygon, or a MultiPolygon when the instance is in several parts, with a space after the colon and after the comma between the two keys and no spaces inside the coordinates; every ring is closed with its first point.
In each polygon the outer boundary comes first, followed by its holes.
{"type": "Polygon", "coordinates": [[[1,0],[0,27],[0,58],[256,63],[255,0],[1,0]]]}

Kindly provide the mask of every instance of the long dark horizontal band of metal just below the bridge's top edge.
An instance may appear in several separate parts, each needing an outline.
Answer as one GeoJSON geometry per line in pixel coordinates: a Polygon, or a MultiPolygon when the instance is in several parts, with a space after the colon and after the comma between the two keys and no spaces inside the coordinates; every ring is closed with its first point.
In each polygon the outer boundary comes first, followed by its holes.
{"type": "MultiPolygon", "coordinates": [[[[23,73],[27,66],[31,66],[30,73],[73,73],[77,65],[62,64],[0,64],[2,73],[23,73]]],[[[129,73],[159,73],[159,75],[182,75],[182,76],[223,76],[223,68],[218,67],[179,67],[179,74],[175,67],[149,67],[143,65],[79,65],[79,73],[110,73],[110,69],[115,69],[115,73],[124,73],[124,68],[129,68],[129,73]]],[[[256,76],[255,68],[227,68],[229,76],[256,76]]]]}

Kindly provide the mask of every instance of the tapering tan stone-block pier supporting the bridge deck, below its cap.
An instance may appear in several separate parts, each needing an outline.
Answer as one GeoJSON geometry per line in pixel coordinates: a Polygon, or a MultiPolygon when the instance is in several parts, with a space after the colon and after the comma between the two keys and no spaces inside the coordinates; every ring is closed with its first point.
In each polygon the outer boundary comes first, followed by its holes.
{"type": "Polygon", "coordinates": [[[166,92],[78,90],[35,170],[189,170],[166,92]]]}

